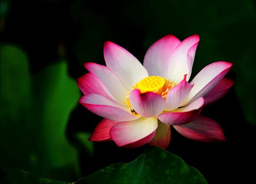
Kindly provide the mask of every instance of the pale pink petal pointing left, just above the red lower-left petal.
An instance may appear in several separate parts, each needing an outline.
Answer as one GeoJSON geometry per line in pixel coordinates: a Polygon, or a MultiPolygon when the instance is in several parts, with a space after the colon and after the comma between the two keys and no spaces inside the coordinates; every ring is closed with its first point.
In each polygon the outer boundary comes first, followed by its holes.
{"type": "Polygon", "coordinates": [[[94,114],[114,121],[131,121],[140,117],[131,114],[130,107],[122,106],[98,94],[84,95],[79,99],[79,103],[94,114]]]}

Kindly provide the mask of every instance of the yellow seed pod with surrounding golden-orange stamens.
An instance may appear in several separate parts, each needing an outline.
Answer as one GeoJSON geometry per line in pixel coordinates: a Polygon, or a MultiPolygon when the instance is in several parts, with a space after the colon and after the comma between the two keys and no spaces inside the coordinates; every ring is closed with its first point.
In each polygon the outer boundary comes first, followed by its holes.
{"type": "MultiPolygon", "coordinates": [[[[146,92],[153,92],[153,93],[157,93],[160,96],[162,96],[164,99],[167,96],[167,93],[177,84],[173,81],[169,81],[166,80],[165,78],[161,77],[161,76],[148,76],[143,78],[141,81],[139,81],[138,83],[136,83],[132,89],[138,89],[140,90],[140,93],[146,93],[146,92]]],[[[130,92],[129,92],[130,94],[130,92]]],[[[129,94],[127,94],[124,103],[127,106],[131,107],[131,103],[129,100],[129,94]]],[[[136,114],[136,112],[133,110],[133,108],[131,107],[131,112],[133,114],[136,114]]]]}

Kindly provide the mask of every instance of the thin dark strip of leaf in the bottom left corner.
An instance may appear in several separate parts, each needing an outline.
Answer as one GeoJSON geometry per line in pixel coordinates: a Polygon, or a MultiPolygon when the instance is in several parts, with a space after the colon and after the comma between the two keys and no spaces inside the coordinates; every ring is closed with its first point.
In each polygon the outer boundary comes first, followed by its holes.
{"type": "Polygon", "coordinates": [[[8,168],[0,168],[0,175],[0,183],[3,184],[67,184],[65,181],[41,178],[25,171],[8,168]]]}

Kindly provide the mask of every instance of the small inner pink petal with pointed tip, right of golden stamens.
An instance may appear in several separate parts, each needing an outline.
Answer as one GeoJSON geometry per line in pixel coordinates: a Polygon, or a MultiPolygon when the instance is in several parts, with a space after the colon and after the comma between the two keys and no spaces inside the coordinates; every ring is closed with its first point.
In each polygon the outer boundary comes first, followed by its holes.
{"type": "Polygon", "coordinates": [[[180,107],[186,100],[191,88],[193,88],[193,85],[190,85],[186,81],[186,75],[184,75],[183,80],[168,92],[165,99],[166,107],[164,110],[172,111],[180,107]]]}

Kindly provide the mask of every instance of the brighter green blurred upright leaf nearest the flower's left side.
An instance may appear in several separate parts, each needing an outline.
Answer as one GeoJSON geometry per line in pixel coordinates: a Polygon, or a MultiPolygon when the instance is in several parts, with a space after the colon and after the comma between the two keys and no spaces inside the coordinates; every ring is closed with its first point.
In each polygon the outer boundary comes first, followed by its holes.
{"type": "Polygon", "coordinates": [[[76,82],[68,75],[66,61],[49,65],[33,79],[34,107],[41,130],[39,142],[43,148],[41,173],[55,179],[70,180],[74,173],[78,177],[77,150],[65,134],[70,113],[80,97],[76,82]]]}

